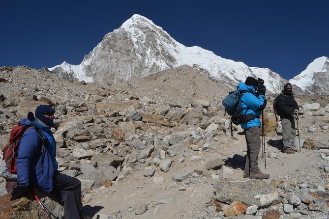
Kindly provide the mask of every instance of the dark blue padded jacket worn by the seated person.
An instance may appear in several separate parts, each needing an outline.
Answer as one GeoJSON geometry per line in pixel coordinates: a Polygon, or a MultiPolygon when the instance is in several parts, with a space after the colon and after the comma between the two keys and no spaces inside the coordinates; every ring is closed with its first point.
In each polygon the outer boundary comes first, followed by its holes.
{"type": "MultiPolygon", "coordinates": [[[[22,119],[21,125],[35,127],[29,119],[22,119]]],[[[37,186],[43,192],[50,193],[53,190],[53,176],[56,170],[53,167],[54,159],[49,155],[43,137],[36,129],[27,130],[21,138],[16,159],[19,186],[37,186]]]]}

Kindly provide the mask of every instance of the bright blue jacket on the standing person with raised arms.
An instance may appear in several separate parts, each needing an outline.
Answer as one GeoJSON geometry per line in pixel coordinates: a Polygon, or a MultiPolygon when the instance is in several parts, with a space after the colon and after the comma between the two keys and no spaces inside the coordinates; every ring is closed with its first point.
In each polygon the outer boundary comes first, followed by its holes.
{"type": "Polygon", "coordinates": [[[248,129],[253,126],[261,127],[259,117],[262,115],[262,110],[265,109],[267,100],[264,95],[259,95],[255,88],[250,85],[245,85],[243,82],[239,82],[237,89],[242,93],[241,96],[241,114],[254,115],[256,118],[249,120],[248,122],[241,123],[242,129],[248,129]]]}

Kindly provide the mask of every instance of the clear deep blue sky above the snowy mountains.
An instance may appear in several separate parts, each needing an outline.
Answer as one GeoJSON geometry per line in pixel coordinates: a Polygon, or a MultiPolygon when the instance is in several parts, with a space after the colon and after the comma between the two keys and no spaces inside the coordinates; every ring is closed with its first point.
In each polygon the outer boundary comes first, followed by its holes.
{"type": "Polygon", "coordinates": [[[185,46],[291,79],[329,56],[328,8],[328,0],[1,0],[0,66],[80,64],[140,14],[185,46]]]}

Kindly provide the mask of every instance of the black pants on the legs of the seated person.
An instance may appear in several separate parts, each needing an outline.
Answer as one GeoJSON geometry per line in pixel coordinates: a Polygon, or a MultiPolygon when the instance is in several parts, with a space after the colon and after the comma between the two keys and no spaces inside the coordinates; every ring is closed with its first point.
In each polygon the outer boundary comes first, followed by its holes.
{"type": "Polygon", "coordinates": [[[83,219],[80,180],[55,172],[52,193],[62,203],[65,219],[83,219]]]}

